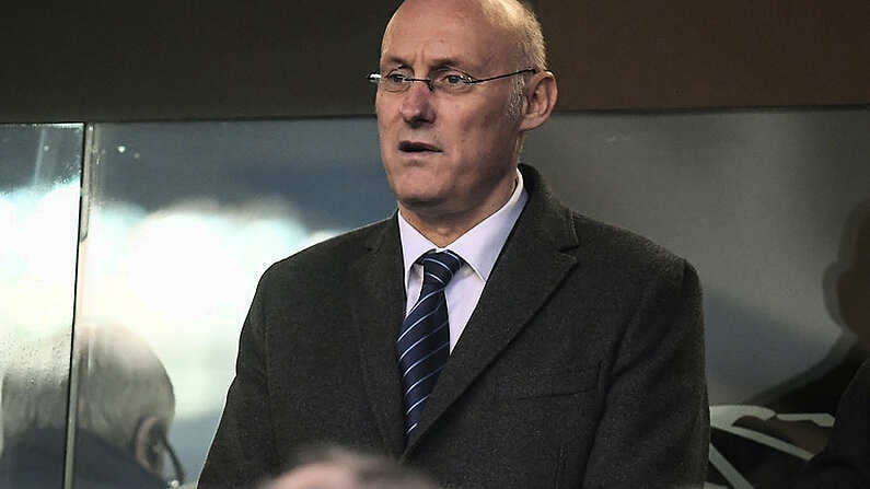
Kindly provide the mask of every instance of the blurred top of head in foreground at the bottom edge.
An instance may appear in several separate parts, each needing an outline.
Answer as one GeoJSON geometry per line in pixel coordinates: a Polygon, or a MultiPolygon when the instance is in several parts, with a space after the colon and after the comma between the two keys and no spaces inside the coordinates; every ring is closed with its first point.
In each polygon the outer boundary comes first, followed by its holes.
{"type": "Polygon", "coordinates": [[[438,489],[438,486],[390,458],[330,447],[303,454],[300,465],[262,489],[438,489]]]}

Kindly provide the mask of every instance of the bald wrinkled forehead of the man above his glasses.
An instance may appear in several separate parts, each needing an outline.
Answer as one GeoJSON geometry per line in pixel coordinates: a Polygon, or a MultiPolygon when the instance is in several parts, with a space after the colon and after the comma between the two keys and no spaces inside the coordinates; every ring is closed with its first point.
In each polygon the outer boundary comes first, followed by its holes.
{"type": "Polygon", "coordinates": [[[475,0],[407,0],[381,43],[381,65],[461,65],[487,69],[507,62],[514,38],[503,14],[475,0]]]}

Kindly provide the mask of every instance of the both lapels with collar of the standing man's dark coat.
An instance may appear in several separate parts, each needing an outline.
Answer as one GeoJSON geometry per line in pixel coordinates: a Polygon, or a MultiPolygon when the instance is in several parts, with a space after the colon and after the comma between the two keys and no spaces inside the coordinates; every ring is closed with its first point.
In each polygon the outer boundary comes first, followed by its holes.
{"type": "Polygon", "coordinates": [[[405,304],[402,245],[396,216],[375,224],[368,253],[355,265],[361,291],[353,294],[367,394],[386,451],[411,452],[427,430],[498,357],[576,265],[565,253],[579,245],[571,212],[549,194],[541,175],[520,165],[529,202],[496,261],[480,301],[451,353],[405,446],[402,381],[395,338],[405,304]]]}

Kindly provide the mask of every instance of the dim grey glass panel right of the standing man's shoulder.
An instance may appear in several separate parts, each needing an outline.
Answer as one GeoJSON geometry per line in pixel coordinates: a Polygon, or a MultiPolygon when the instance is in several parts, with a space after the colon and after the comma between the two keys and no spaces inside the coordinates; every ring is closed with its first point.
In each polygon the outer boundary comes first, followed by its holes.
{"type": "Polygon", "coordinates": [[[870,357],[869,133],[867,109],[594,114],[525,144],[572,208],[697,267],[711,482],[790,487],[870,357]]]}

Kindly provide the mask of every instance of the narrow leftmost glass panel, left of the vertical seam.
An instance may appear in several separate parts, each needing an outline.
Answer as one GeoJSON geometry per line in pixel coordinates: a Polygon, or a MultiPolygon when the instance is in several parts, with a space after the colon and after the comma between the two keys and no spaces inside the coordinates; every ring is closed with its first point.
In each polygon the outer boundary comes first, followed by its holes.
{"type": "Polygon", "coordinates": [[[82,125],[0,125],[0,487],[63,480],[82,125]]]}

